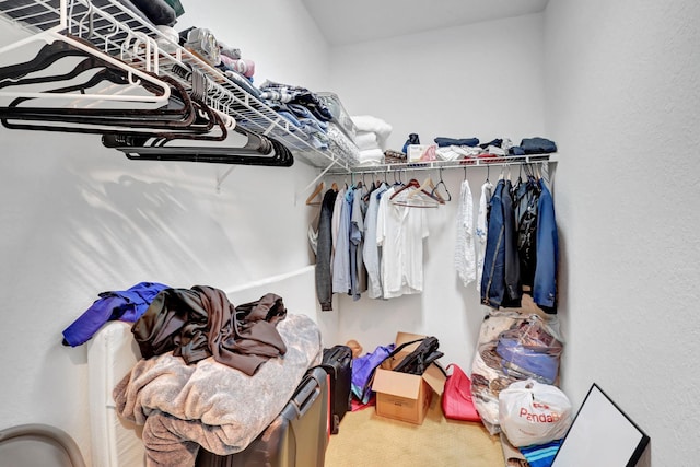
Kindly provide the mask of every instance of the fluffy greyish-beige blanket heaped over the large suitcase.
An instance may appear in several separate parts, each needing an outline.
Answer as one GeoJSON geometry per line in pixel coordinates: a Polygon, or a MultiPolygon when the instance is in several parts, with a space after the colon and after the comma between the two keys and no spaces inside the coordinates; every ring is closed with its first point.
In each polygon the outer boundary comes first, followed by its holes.
{"type": "Polygon", "coordinates": [[[275,420],[323,354],[320,331],[307,316],[288,314],[277,330],[287,352],[254,376],[213,357],[187,365],[172,351],[133,366],[113,396],[120,417],[143,425],[147,466],[191,467],[199,446],[241,452],[275,420]]]}

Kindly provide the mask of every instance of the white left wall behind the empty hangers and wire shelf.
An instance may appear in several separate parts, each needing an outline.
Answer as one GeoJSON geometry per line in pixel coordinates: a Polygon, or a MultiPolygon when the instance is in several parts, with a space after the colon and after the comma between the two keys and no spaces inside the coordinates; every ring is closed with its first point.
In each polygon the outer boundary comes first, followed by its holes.
{"type": "MultiPolygon", "coordinates": [[[[183,1],[178,28],[206,25],[240,46],[256,82],[327,80],[325,60],[290,54],[327,54],[298,2],[206,3],[183,1]]],[[[16,36],[0,25],[1,45],[16,36]]],[[[60,342],[98,292],[144,280],[226,290],[311,261],[306,195],[295,195],[315,171],[302,163],[235,166],[218,191],[229,166],[128,161],[98,136],[0,128],[0,428],[60,427],[90,459],[85,348],[60,342]]]]}

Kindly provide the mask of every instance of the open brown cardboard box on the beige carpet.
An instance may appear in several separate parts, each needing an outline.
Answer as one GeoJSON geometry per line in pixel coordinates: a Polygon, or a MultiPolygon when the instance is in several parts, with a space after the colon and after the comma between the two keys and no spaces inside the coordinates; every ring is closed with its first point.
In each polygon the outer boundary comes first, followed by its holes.
{"type": "MultiPolygon", "coordinates": [[[[424,337],[410,332],[398,332],[396,346],[424,337]]],[[[376,413],[378,416],[421,424],[430,407],[433,393],[442,395],[445,375],[434,363],[421,376],[392,370],[406,355],[416,350],[419,343],[407,346],[375,370],[372,390],[376,393],[376,413]]]]}

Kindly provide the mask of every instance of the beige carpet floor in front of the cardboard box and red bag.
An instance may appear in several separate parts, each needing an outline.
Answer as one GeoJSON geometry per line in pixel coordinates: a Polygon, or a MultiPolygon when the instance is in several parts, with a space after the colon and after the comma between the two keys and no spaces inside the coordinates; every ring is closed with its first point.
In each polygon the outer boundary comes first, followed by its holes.
{"type": "MultiPolygon", "coordinates": [[[[434,395],[433,395],[434,396],[434,395]]],[[[423,424],[378,417],[374,407],[347,412],[330,436],[326,467],[502,467],[499,435],[481,423],[447,420],[433,397],[423,424]]]]}

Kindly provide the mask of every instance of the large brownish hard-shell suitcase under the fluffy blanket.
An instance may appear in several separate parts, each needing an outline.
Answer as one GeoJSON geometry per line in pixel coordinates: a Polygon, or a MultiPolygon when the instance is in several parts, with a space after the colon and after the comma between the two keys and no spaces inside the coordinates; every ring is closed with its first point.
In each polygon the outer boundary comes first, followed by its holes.
{"type": "Polygon", "coordinates": [[[279,417],[240,453],[200,447],[195,467],[323,467],[328,443],[328,375],[310,370],[279,417]]]}

